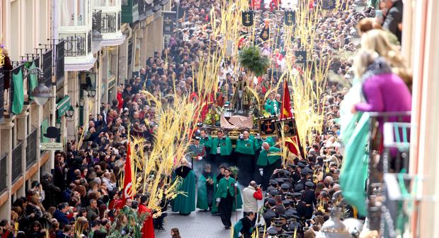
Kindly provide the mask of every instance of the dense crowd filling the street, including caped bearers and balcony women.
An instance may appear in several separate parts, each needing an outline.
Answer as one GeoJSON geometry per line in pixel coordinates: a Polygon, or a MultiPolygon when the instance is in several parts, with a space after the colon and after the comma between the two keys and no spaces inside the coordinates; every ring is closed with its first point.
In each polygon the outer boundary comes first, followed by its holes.
{"type": "MultiPolygon", "coordinates": [[[[396,16],[394,7],[399,9],[400,1],[388,2],[392,4],[385,6],[387,11],[384,13],[396,16]]],[[[310,57],[320,62],[331,61],[332,71],[345,80],[356,78],[359,81],[366,100],[358,100],[358,104],[352,106],[352,112],[409,110],[410,73],[406,71],[397,46],[389,43],[390,33],[372,20],[373,8],[357,12],[353,1],[342,3],[343,8],[331,15],[319,13],[320,20],[314,26],[319,37],[314,39],[315,48],[310,57]],[[363,40],[358,61],[352,64],[336,54],[356,50],[355,27],[360,29],[363,40]],[[380,95],[382,92],[392,94],[380,95]]],[[[270,38],[278,40],[264,42],[256,37],[256,42],[251,42],[251,37],[244,37],[241,44],[259,45],[262,54],[275,62],[257,81],[248,78],[244,81],[261,96],[270,93],[265,107],[260,109],[261,114],[278,115],[283,92],[270,92],[270,87],[280,80],[285,64],[294,64],[286,61],[285,55],[304,49],[303,44],[309,44],[310,39],[285,45],[283,14],[270,6],[255,11],[255,16],[259,16],[255,17],[258,21],[255,24],[263,25],[264,19],[271,19],[270,28],[280,30],[272,30],[270,38]]],[[[312,7],[313,1],[310,1],[310,12],[312,7]]],[[[101,113],[90,115],[88,124],[79,128],[79,141],[69,141],[65,151],[55,153],[54,173],[43,174],[40,181],[32,183],[25,197],[13,201],[11,219],[0,222],[1,237],[68,238],[79,235],[100,238],[110,237],[111,227],[127,237],[135,237],[137,231],[127,218],[128,213],[147,213],[142,227],[144,238],[154,237],[154,230],[164,230],[166,213],[153,217],[155,211],[147,208],[149,194],[122,199],[118,182],[123,174],[129,135],[145,138],[148,149],[154,147],[159,112],[143,90],[160,98],[164,105],[171,105],[174,97],[190,95],[195,90],[193,82],[197,78],[193,78],[193,72],[200,64],[199,52],[212,50],[208,45],[221,41],[212,39],[209,27],[210,11],[213,9],[218,16],[221,14],[220,1],[182,0],[180,8],[184,13],[178,23],[182,29],[171,35],[163,52],[155,52],[147,59],[146,67],[138,76],[118,85],[117,98],[113,102],[102,103],[101,113]],[[125,213],[119,213],[119,210],[125,210],[125,213]]],[[[384,19],[383,26],[400,41],[401,19],[392,19],[384,19]]],[[[232,89],[238,78],[245,75],[235,74],[237,71],[232,68],[231,60],[224,59],[220,67],[217,76],[220,90],[219,95],[215,95],[218,102],[214,101],[208,107],[224,107],[227,99],[236,96],[232,89]]],[[[299,66],[297,70],[300,71],[299,66]]],[[[343,155],[339,150],[342,143],[339,118],[341,102],[348,94],[348,88],[339,83],[328,83],[325,90],[319,102],[324,109],[321,133],[315,133],[312,141],[304,145],[305,155],[295,158],[279,155],[283,146],[277,143],[275,136],[263,137],[251,133],[249,128],[244,129],[239,138],[231,140],[218,124],[201,119],[192,138],[193,144],[188,148],[188,157],[179,158],[179,164],[175,165],[174,175],[183,178],[180,190],[186,195],[176,196],[171,204],[161,201],[162,210],[167,210],[169,205],[172,211],[182,215],[190,214],[195,208],[209,210],[220,215],[225,229],[232,228],[235,237],[251,237],[256,230],[258,237],[264,234],[315,237],[329,219],[333,206],[331,198],[341,191],[338,180],[343,155]],[[216,133],[211,135],[214,129],[216,133]],[[258,201],[262,201],[262,207],[258,201]],[[244,218],[233,226],[232,211],[238,209],[243,210],[244,218]]],[[[220,113],[220,110],[216,112],[220,113]]],[[[362,218],[354,207],[348,206],[348,210],[346,218],[362,218]]],[[[178,228],[171,230],[171,236],[180,237],[178,228]]]]}

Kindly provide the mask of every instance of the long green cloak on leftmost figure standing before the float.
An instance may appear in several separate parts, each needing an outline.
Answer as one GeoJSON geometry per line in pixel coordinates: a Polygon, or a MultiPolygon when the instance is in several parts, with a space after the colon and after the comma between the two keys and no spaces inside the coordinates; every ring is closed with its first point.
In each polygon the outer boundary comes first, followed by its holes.
{"type": "Polygon", "coordinates": [[[183,183],[178,191],[184,191],[186,194],[178,194],[173,200],[172,211],[181,214],[189,214],[195,210],[195,174],[192,169],[183,179],[183,183]]]}

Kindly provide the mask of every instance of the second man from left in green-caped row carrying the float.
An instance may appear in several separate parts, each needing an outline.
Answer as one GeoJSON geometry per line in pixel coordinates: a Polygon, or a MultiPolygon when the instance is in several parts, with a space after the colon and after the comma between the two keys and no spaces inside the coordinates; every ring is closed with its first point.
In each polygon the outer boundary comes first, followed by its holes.
{"type": "Polygon", "coordinates": [[[215,157],[215,165],[219,166],[229,162],[232,153],[232,141],[221,129],[217,132],[217,138],[210,142],[210,154],[215,157]]]}

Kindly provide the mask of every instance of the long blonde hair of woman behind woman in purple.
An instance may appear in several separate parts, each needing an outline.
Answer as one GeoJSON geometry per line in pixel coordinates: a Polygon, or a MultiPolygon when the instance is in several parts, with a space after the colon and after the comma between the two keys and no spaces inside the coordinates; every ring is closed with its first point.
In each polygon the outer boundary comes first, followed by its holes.
{"type": "Polygon", "coordinates": [[[361,36],[361,49],[377,52],[379,56],[386,59],[387,64],[392,68],[411,91],[413,76],[411,70],[407,68],[399,49],[387,40],[387,33],[384,30],[369,30],[361,36]]]}

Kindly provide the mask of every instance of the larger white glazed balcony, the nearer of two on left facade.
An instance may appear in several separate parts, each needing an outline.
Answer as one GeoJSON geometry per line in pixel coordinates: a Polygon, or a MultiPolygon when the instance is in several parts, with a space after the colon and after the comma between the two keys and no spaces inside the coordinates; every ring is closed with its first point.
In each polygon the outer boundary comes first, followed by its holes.
{"type": "Polygon", "coordinates": [[[85,71],[96,61],[92,52],[90,0],[71,0],[57,6],[58,39],[64,40],[64,70],[85,71]]]}

